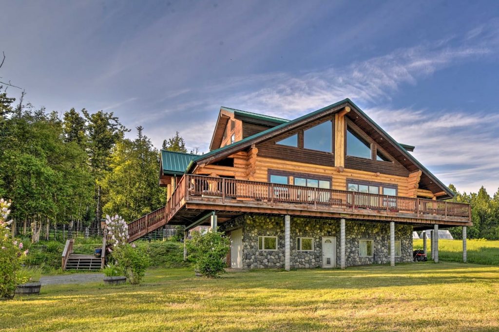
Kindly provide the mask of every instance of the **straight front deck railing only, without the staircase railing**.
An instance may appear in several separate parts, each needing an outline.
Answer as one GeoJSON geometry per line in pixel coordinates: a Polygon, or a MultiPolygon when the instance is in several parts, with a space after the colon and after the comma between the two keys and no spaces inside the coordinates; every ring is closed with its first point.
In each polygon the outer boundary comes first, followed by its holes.
{"type": "MultiPolygon", "coordinates": [[[[250,199],[270,203],[308,204],[314,207],[331,206],[352,210],[369,209],[417,215],[436,215],[444,218],[470,218],[470,205],[464,203],[201,175],[185,175],[182,180],[184,179],[188,182],[187,198],[189,196],[218,197],[222,202],[226,199],[250,199]]],[[[182,192],[182,196],[184,196],[184,192],[182,192]]]]}

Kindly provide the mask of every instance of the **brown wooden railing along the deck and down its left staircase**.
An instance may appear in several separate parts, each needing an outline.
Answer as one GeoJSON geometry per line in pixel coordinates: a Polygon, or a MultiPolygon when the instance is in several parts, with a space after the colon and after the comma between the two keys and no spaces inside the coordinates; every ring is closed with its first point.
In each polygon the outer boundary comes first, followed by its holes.
{"type": "Polygon", "coordinates": [[[226,200],[252,200],[274,203],[290,203],[320,207],[341,208],[342,212],[373,210],[388,213],[407,213],[419,217],[438,216],[467,218],[471,221],[469,204],[434,201],[412,197],[378,195],[345,190],[311,188],[249,180],[217,178],[202,175],[184,175],[164,208],[128,224],[129,241],[164,225],[182,209],[190,197],[226,200]]]}

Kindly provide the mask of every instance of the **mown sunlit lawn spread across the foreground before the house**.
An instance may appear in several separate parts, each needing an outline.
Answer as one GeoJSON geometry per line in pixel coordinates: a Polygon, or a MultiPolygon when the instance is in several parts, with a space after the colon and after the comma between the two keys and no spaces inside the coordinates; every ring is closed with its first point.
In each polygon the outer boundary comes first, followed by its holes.
{"type": "Polygon", "coordinates": [[[43,286],[0,303],[2,331],[498,331],[499,267],[400,264],[43,286]]]}

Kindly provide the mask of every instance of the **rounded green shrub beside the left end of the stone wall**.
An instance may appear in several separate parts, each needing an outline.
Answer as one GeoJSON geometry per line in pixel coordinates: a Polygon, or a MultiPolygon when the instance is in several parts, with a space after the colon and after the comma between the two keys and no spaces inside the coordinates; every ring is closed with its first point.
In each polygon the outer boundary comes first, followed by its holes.
{"type": "Polygon", "coordinates": [[[216,278],[224,272],[224,258],[229,253],[230,240],[223,233],[208,232],[201,235],[195,231],[186,245],[197,271],[209,278],[216,278]]]}

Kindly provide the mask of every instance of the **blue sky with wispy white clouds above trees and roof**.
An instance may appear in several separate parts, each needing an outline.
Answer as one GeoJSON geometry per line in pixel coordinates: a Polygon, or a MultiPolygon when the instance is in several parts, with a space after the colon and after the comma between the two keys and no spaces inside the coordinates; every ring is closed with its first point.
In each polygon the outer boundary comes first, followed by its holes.
{"type": "Polygon", "coordinates": [[[0,1],[0,76],[36,108],[206,152],[221,106],[350,98],[444,183],[498,190],[498,1],[0,1]]]}

